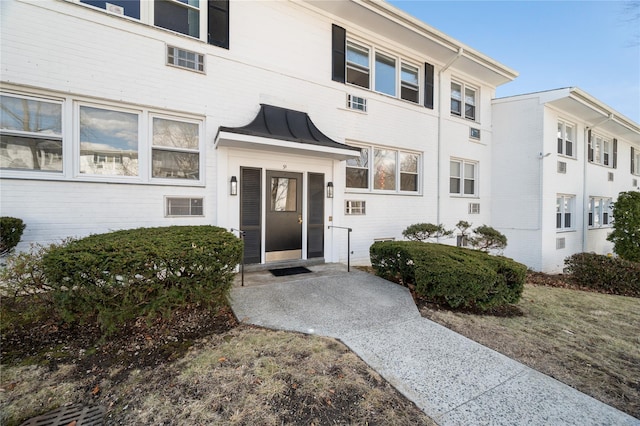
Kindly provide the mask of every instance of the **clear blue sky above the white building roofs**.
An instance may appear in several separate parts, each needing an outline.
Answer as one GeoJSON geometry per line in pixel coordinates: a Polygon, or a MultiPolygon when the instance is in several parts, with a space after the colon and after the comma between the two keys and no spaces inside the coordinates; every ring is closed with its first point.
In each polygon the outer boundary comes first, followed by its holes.
{"type": "Polygon", "coordinates": [[[497,97],[578,87],[640,123],[640,1],[387,1],[517,71],[497,97]]]}

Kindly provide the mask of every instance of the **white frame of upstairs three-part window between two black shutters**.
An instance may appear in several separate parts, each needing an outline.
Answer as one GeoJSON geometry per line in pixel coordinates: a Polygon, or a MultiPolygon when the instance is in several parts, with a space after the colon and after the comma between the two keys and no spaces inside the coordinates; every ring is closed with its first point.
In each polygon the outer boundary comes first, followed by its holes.
{"type": "Polygon", "coordinates": [[[412,60],[408,60],[404,57],[402,57],[401,55],[397,55],[397,54],[392,54],[389,53],[389,51],[384,50],[384,49],[379,49],[377,46],[374,46],[370,43],[366,43],[366,42],[362,42],[360,40],[354,39],[354,38],[347,38],[347,44],[346,44],[346,49],[347,49],[347,53],[346,53],[346,58],[345,58],[345,77],[346,77],[346,84],[354,86],[354,87],[360,87],[362,89],[367,89],[367,90],[371,90],[374,91],[376,93],[379,93],[381,95],[384,96],[390,96],[396,99],[400,99],[402,101],[406,101],[406,102],[410,102],[414,105],[420,105],[421,102],[421,97],[422,97],[422,85],[424,84],[422,81],[422,73],[420,72],[422,67],[419,65],[416,65],[417,61],[412,61],[412,60]],[[353,48],[355,50],[359,50],[362,53],[367,53],[367,59],[368,59],[368,66],[364,67],[361,64],[356,64],[354,62],[349,62],[348,60],[348,51],[349,48],[353,48]],[[382,90],[380,90],[379,87],[376,87],[376,65],[377,65],[377,59],[378,57],[384,57],[388,60],[392,60],[394,61],[394,85],[393,85],[393,90],[394,93],[387,93],[384,92],[382,90]],[[402,70],[406,68],[406,69],[411,69],[412,71],[415,71],[416,73],[416,78],[417,78],[417,85],[407,81],[407,80],[403,80],[402,79],[402,70]],[[350,83],[349,82],[349,69],[352,70],[356,70],[359,72],[366,72],[368,74],[368,85],[367,86],[361,86],[359,84],[355,84],[355,83],[350,83]],[[407,97],[403,97],[402,95],[402,89],[408,89],[408,90],[413,90],[417,93],[417,99],[415,101],[411,100],[411,99],[407,99],[407,97]]]}

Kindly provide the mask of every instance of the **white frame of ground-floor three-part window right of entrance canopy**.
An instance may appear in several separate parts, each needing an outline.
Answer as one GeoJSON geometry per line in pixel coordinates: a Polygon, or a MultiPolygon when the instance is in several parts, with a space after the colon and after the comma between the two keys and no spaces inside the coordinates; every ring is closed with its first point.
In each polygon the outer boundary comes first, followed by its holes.
{"type": "MultiPolygon", "coordinates": [[[[356,145],[354,145],[356,146],[356,145]]],[[[356,187],[350,187],[350,186],[346,186],[346,182],[345,182],[345,188],[347,191],[349,192],[372,192],[372,193],[386,193],[386,194],[402,194],[402,195],[420,195],[421,191],[422,191],[422,187],[421,187],[421,182],[422,182],[422,153],[420,152],[416,152],[416,151],[411,151],[411,150],[405,150],[405,149],[398,149],[398,148],[390,148],[390,147],[384,147],[384,146],[379,146],[379,145],[357,145],[358,148],[360,148],[361,150],[365,150],[367,152],[367,167],[361,167],[361,166],[356,166],[356,165],[349,165],[349,161],[347,160],[346,164],[345,164],[345,168],[349,169],[349,168],[353,168],[353,169],[362,169],[362,170],[367,170],[367,187],[366,188],[356,188],[356,187]],[[376,150],[381,150],[381,151],[388,151],[394,154],[394,158],[395,158],[395,189],[377,189],[375,188],[375,169],[376,169],[376,165],[375,165],[375,152],[376,150]],[[408,170],[401,170],[401,161],[400,161],[400,154],[408,154],[408,155],[416,155],[417,158],[417,172],[412,172],[412,171],[408,171],[408,170]],[[412,174],[412,175],[417,175],[417,180],[416,180],[416,190],[403,190],[402,187],[402,175],[403,174],[412,174]]],[[[345,174],[348,172],[348,170],[345,169],[345,174]]],[[[346,178],[345,178],[346,179],[346,178]]]]}

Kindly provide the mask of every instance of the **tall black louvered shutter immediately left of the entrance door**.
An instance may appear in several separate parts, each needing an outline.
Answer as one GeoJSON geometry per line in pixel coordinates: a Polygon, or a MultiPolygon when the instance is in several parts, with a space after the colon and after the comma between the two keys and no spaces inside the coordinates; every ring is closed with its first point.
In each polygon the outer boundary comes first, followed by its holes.
{"type": "Polygon", "coordinates": [[[262,241],[262,170],[240,171],[240,229],[244,231],[244,262],[260,263],[262,241]]]}

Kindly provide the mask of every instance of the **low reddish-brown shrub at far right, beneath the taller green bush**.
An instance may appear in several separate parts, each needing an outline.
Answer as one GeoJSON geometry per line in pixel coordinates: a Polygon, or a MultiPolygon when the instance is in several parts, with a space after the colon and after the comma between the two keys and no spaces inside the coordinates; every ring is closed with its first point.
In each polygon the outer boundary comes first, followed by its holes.
{"type": "Polygon", "coordinates": [[[576,253],[564,261],[580,285],[605,293],[640,297],[640,263],[594,253],[576,253]]]}

